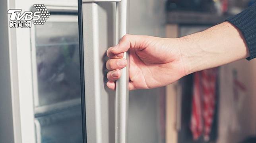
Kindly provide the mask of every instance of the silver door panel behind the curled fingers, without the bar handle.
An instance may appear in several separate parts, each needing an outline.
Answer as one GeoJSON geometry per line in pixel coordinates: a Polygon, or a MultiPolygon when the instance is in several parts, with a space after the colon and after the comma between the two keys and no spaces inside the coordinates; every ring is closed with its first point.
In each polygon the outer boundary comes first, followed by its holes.
{"type": "Polygon", "coordinates": [[[106,51],[114,45],[113,2],[83,3],[87,143],[114,143],[114,92],[105,88],[106,51]]]}

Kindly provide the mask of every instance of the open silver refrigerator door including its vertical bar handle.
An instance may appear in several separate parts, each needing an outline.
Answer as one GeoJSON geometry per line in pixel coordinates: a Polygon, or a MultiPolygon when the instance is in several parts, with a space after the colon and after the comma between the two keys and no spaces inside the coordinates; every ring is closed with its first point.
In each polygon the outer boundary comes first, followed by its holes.
{"type": "MultiPolygon", "coordinates": [[[[128,67],[121,70],[122,77],[116,82],[113,96],[113,92],[105,89],[105,62],[107,48],[128,33],[128,1],[81,0],[79,6],[87,141],[127,143],[128,67]]],[[[128,53],[124,58],[128,59],[128,53]]]]}

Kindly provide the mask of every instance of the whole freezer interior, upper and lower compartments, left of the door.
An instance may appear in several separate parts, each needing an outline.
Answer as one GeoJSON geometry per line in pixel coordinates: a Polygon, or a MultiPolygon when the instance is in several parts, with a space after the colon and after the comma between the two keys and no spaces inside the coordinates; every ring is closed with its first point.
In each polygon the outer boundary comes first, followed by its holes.
{"type": "Polygon", "coordinates": [[[82,143],[78,16],[54,13],[34,37],[37,143],[82,143]]]}

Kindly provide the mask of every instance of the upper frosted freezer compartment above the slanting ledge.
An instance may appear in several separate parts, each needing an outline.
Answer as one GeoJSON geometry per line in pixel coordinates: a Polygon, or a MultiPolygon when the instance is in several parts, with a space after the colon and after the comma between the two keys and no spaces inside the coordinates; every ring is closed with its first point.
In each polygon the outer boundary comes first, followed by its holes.
{"type": "Polygon", "coordinates": [[[77,15],[35,26],[35,59],[35,107],[81,97],[77,15]]]}

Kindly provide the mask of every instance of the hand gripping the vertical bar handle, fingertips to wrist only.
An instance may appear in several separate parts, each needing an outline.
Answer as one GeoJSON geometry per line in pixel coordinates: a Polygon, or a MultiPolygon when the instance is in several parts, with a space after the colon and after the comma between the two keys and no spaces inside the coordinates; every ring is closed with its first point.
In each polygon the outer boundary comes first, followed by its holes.
{"type": "Polygon", "coordinates": [[[180,79],[187,73],[178,43],[178,39],[125,35],[118,45],[107,50],[107,86],[115,89],[120,69],[127,66],[123,56],[128,50],[130,90],[162,87],[180,79]]]}

